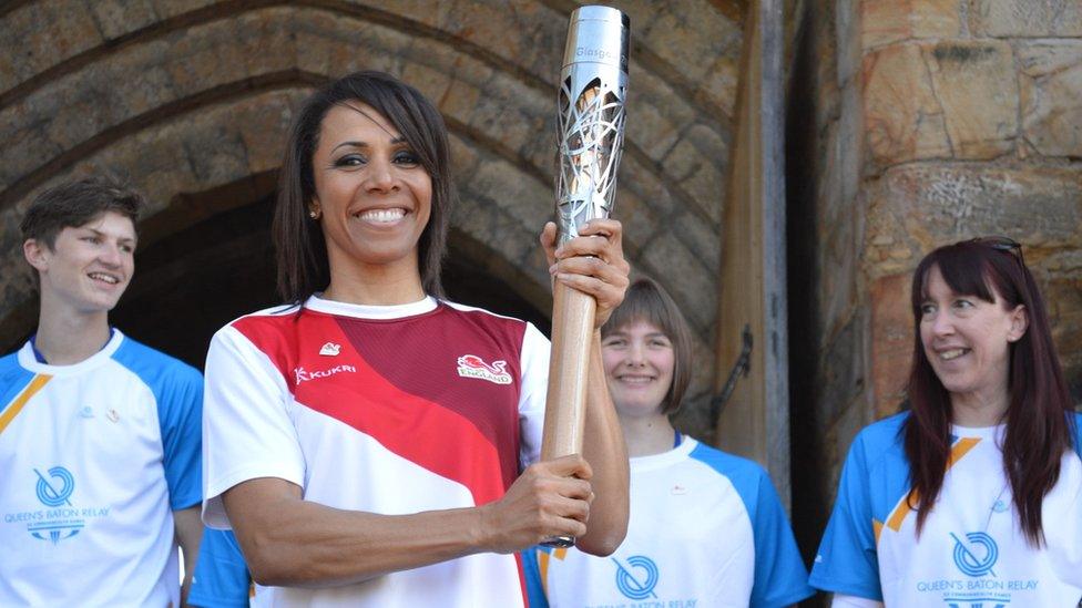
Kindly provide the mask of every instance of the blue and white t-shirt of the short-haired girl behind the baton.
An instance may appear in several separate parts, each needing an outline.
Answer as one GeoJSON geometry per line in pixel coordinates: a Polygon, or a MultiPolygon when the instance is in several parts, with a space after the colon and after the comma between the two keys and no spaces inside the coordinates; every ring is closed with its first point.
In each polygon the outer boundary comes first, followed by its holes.
{"type": "Polygon", "coordinates": [[[530,606],[780,607],[813,594],[766,472],[691,437],[631,458],[631,518],[609,557],[524,554],[530,606]]]}

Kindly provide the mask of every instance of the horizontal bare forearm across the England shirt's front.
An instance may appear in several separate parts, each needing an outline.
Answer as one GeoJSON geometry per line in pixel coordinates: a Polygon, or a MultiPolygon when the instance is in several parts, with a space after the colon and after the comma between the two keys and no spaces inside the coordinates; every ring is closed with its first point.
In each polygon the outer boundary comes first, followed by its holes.
{"type": "Polygon", "coordinates": [[[226,494],[226,507],[263,585],[347,585],[484,549],[479,508],[377,515],[292,497],[262,505],[245,498],[226,494]]]}

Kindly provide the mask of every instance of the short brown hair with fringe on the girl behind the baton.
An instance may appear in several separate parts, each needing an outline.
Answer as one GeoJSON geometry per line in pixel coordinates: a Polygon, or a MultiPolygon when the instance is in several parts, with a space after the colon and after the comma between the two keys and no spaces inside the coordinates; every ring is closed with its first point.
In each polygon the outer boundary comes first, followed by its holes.
{"type": "Polygon", "coordinates": [[[636,321],[656,326],[673,343],[673,383],[665,393],[661,409],[662,413],[673,413],[680,408],[692,380],[692,341],[687,321],[668,292],[656,281],[645,277],[627,288],[624,301],[601,327],[601,337],[605,338],[636,321]]]}

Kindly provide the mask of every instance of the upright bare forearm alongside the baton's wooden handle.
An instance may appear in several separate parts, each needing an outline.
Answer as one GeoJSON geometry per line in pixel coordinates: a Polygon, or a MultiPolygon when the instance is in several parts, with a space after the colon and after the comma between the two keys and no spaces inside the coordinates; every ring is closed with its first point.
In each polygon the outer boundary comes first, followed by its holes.
{"type": "Polygon", "coordinates": [[[605,383],[601,333],[594,331],[591,341],[582,451],[593,468],[590,482],[595,498],[590,507],[586,534],[576,544],[583,552],[609,555],[627,533],[627,449],[605,383]]]}

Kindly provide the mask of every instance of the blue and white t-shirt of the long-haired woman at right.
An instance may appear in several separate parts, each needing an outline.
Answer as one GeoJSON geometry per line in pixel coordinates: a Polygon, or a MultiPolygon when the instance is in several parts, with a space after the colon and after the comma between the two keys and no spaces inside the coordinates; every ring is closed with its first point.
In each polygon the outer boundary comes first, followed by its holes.
{"type": "MultiPolygon", "coordinates": [[[[1082,598],[1082,460],[1063,454],[1044,497],[1048,546],[1031,546],[1003,474],[1006,426],[956,426],[935,508],[916,534],[906,501],[909,464],[900,434],[908,414],[862,430],[841,473],[810,583],[890,606],[1070,607],[1082,598]]],[[[1078,422],[1080,418],[1075,414],[1078,422]]],[[[1075,447],[1082,436],[1075,436],[1075,447]]]]}

